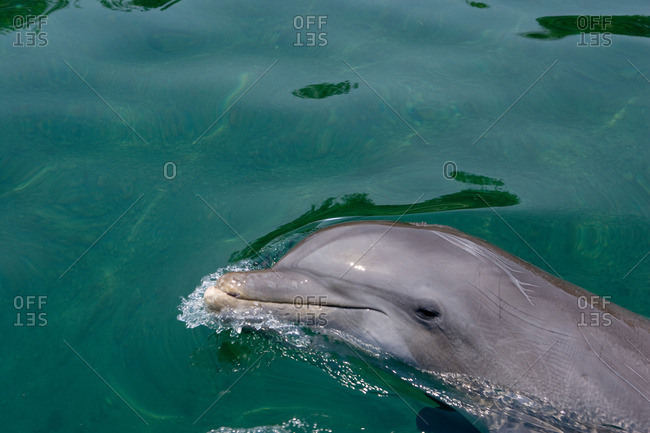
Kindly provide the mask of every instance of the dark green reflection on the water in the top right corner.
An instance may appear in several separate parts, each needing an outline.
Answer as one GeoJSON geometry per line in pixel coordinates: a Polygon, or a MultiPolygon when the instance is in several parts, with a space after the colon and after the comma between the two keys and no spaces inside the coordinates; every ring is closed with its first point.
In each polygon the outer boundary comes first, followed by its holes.
{"type": "Polygon", "coordinates": [[[521,36],[551,40],[581,33],[650,37],[650,17],[645,15],[561,15],[540,17],[536,21],[545,31],[521,33],[521,36]]]}

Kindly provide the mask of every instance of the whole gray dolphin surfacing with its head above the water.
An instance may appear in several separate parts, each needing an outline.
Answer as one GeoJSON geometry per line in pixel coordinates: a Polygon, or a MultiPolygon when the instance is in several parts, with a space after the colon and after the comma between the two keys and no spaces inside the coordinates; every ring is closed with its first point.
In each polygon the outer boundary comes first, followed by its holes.
{"type": "Polygon", "coordinates": [[[204,300],[514,393],[550,431],[650,431],[650,321],[449,227],[330,226],[271,269],[223,275],[204,300]]]}

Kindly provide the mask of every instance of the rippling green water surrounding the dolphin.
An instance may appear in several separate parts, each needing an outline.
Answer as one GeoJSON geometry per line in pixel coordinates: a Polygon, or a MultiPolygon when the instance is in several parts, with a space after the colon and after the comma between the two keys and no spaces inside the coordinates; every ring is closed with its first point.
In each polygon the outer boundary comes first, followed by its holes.
{"type": "Polygon", "coordinates": [[[402,220],[452,225],[650,316],[644,12],[0,2],[2,430],[415,432],[430,402],[360,361],[343,378],[258,361],[264,340],[219,349],[177,320],[242,238],[295,230],[332,197],[375,207],[326,216],[427,202],[402,220]],[[16,21],[42,14],[40,29],[16,21]],[[296,29],[308,15],[326,22],[296,29]],[[569,18],[586,15],[613,24],[585,36],[569,18]],[[490,209],[476,191],[509,200],[490,209]]]}

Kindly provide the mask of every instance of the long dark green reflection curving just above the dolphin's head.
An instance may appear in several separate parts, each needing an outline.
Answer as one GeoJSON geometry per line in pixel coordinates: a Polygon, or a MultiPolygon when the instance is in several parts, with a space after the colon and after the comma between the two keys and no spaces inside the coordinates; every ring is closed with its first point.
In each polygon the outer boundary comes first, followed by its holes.
{"type": "MultiPolygon", "coordinates": [[[[503,186],[503,182],[486,176],[471,175],[465,172],[455,172],[456,180],[475,185],[503,186]]],[[[347,194],[340,198],[330,197],[317,208],[311,209],[284,224],[272,232],[251,242],[248,247],[236,251],[230,256],[230,262],[252,258],[258,252],[277,238],[292,232],[307,233],[314,229],[310,224],[331,218],[343,217],[399,217],[403,215],[424,214],[459,209],[479,209],[485,207],[514,206],[519,203],[519,197],[506,192],[487,189],[464,189],[452,194],[445,194],[421,203],[405,203],[395,205],[377,205],[368,194],[347,194]]]]}

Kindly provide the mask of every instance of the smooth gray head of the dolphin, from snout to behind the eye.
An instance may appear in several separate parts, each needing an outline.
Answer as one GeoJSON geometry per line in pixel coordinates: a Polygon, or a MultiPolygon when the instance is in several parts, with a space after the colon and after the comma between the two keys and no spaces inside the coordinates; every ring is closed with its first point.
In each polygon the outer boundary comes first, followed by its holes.
{"type": "MultiPolygon", "coordinates": [[[[261,308],[417,367],[460,372],[463,363],[488,362],[484,333],[494,327],[482,321],[494,316],[480,286],[503,280],[504,271],[483,263],[479,247],[454,233],[388,222],[331,226],[273,268],[224,274],[204,300],[213,311],[261,308]]],[[[511,291],[525,303],[525,293],[511,291]]]]}

